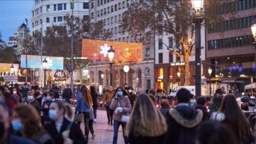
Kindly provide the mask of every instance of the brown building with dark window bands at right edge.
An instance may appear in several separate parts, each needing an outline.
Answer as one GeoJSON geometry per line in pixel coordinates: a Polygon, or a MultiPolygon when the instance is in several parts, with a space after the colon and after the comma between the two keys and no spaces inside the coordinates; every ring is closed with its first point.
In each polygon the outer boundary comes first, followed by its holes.
{"type": "MultiPolygon", "coordinates": [[[[244,0],[226,3],[213,9],[226,19],[211,25],[206,33],[208,67],[213,69],[212,80],[216,88],[236,92],[255,80],[255,47],[251,25],[256,20],[256,1],[244,0]],[[228,11],[228,7],[234,12],[228,11]],[[231,14],[231,16],[229,16],[231,14]]],[[[207,73],[207,70],[204,70],[207,73]]]]}

